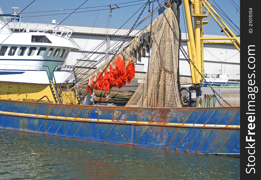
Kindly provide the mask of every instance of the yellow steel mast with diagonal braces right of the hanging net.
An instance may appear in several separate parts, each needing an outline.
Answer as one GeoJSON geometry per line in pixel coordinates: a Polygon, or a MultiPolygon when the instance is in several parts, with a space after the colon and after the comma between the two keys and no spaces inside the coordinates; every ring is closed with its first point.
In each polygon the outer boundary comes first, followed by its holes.
{"type": "MultiPolygon", "coordinates": [[[[187,42],[189,57],[197,67],[200,73],[204,73],[204,56],[203,56],[203,44],[205,43],[222,43],[233,44],[240,52],[240,41],[220,18],[216,11],[211,7],[211,3],[208,0],[183,0],[184,10],[186,16],[186,24],[188,30],[189,41],[187,42]],[[191,7],[191,9],[190,9],[191,7]],[[209,17],[212,17],[218,26],[226,34],[227,38],[203,38],[203,25],[208,23],[209,17]],[[194,29],[192,26],[192,18],[194,18],[194,29]],[[208,40],[208,41],[206,41],[208,40]],[[223,41],[211,41],[211,40],[223,40],[223,41]],[[230,40],[230,41],[224,41],[230,40]]],[[[190,63],[191,79],[197,91],[197,96],[200,95],[200,80],[202,77],[194,69],[190,63]]]]}

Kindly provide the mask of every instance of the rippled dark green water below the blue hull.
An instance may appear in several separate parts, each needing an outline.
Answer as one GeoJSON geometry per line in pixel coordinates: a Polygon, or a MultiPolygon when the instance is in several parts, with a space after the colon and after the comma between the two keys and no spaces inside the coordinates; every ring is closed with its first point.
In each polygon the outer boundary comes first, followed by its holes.
{"type": "Polygon", "coordinates": [[[0,129],[0,179],[240,179],[240,158],[0,129]]]}

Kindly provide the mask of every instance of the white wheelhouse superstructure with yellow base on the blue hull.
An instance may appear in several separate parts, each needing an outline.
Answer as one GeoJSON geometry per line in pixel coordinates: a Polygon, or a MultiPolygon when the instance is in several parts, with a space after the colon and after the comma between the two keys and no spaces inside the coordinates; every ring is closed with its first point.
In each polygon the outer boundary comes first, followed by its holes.
{"type": "Polygon", "coordinates": [[[77,93],[67,91],[76,82],[75,67],[63,66],[70,50],[78,50],[69,39],[73,30],[19,19],[16,14],[0,16],[1,99],[38,101],[44,94],[40,101],[77,103],[77,93]],[[15,22],[8,23],[10,18],[15,22]],[[63,90],[58,90],[61,84],[63,90]],[[70,95],[62,95],[65,91],[70,95]]]}

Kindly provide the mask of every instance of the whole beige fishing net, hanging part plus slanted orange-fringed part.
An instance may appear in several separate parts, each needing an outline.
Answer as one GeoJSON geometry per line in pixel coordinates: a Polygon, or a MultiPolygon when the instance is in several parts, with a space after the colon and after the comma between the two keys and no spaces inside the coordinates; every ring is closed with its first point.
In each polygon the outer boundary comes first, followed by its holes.
{"type": "MultiPolygon", "coordinates": [[[[96,85],[96,87],[94,86],[95,89],[105,88],[107,90],[117,80],[117,76],[114,76],[114,73],[110,74],[111,71],[118,73],[122,69],[121,74],[127,73],[129,64],[136,64],[151,49],[148,71],[126,104],[126,107],[181,107],[177,84],[179,63],[179,42],[177,38],[179,38],[179,27],[176,17],[170,8],[166,8],[164,13],[174,33],[171,31],[163,13],[161,13],[152,22],[152,25],[146,27],[116,54],[117,58],[104,62],[98,69],[81,80],[78,85],[87,85],[87,88],[91,85],[96,85]],[[119,60],[121,62],[117,62],[119,60]],[[119,66],[119,64],[122,65],[119,66]],[[108,80],[108,77],[110,77],[110,80],[108,80]],[[107,80],[104,81],[104,78],[107,80]]],[[[121,85],[133,78],[133,70],[127,76],[121,78],[121,85]]]]}

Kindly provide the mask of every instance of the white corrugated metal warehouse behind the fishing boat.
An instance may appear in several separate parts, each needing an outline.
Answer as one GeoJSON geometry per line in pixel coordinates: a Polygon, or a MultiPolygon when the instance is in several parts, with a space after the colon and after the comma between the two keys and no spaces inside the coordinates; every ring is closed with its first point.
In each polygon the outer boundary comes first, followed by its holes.
{"type": "MultiPolygon", "coordinates": [[[[104,61],[118,49],[129,29],[113,28],[95,28],[82,26],[66,26],[73,29],[71,36],[80,51],[71,51],[66,59],[65,65],[74,65],[79,67],[76,71],[78,77],[87,70],[99,67],[104,61]]],[[[139,30],[133,30],[128,36],[125,44],[131,41],[139,30]]],[[[218,35],[204,35],[206,38],[225,37],[218,35]]],[[[187,50],[188,35],[182,33],[182,45],[187,50]]],[[[212,41],[212,40],[211,40],[212,41]]],[[[217,40],[213,40],[217,41],[217,40]]],[[[191,73],[189,63],[182,53],[179,59],[180,82],[190,83],[191,73]]],[[[142,79],[148,67],[148,56],[142,58],[141,62],[136,64],[135,78],[142,79]]],[[[232,44],[208,43],[204,44],[204,72],[205,73],[225,73],[229,75],[230,80],[240,81],[240,53],[232,44]],[[234,74],[234,75],[233,75],[234,74]],[[235,75],[238,74],[238,75],[235,75]]]]}

